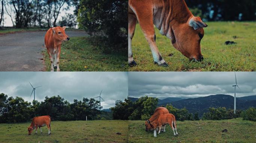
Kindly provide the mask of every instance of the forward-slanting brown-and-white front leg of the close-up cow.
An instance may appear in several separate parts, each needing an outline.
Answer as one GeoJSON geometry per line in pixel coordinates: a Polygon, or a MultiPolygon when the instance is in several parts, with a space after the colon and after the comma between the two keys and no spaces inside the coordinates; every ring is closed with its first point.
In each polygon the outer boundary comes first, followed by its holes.
{"type": "Polygon", "coordinates": [[[156,46],[156,35],[153,26],[153,6],[152,9],[145,9],[143,3],[144,1],[141,1],[141,6],[137,6],[135,9],[138,22],[140,23],[140,27],[144,33],[145,38],[147,39],[147,42],[149,43],[153,54],[154,63],[158,64],[159,66],[167,67],[168,64],[165,63],[165,60],[162,58],[158,47],[156,46]]]}

